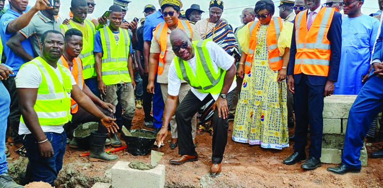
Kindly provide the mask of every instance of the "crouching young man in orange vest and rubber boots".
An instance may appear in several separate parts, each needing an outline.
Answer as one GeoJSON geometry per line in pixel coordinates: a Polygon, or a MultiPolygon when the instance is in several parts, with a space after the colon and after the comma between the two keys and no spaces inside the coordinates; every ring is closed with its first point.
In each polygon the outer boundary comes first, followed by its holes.
{"type": "MultiPolygon", "coordinates": [[[[93,94],[89,87],[84,83],[84,77],[82,75],[82,60],[79,54],[82,51],[82,32],[78,29],[69,29],[65,32],[65,50],[58,63],[68,68],[77,85],[85,93],[105,115],[113,117],[115,107],[110,103],[103,102],[100,98],[93,94]]],[[[115,161],[118,159],[117,156],[107,155],[104,152],[104,143],[111,144],[113,147],[120,147],[121,141],[117,136],[117,133],[110,134],[108,141],[101,143],[101,140],[105,140],[104,137],[108,133],[107,129],[102,125],[100,119],[86,110],[79,107],[76,101],[71,99],[71,114],[72,114],[72,125],[78,125],[87,122],[99,122],[98,132],[92,133],[91,150],[89,155],[90,161],[115,161]],[[108,143],[107,143],[108,142],[108,143]]],[[[73,137],[69,143],[69,147],[78,148],[79,144],[77,139],[73,137]]]]}

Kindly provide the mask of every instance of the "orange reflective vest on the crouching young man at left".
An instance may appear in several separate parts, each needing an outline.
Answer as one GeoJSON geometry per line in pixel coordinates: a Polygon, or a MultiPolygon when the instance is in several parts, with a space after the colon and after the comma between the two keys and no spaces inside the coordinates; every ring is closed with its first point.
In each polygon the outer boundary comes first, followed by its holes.
{"type": "MultiPolygon", "coordinates": [[[[69,69],[69,64],[66,61],[64,55],[62,55],[61,58],[58,59],[58,63],[69,69]]],[[[76,57],[73,59],[72,75],[75,78],[77,85],[82,90],[82,88],[84,87],[84,78],[82,77],[82,66],[80,57],[76,57]]],[[[76,101],[71,98],[71,112],[76,113],[78,109],[79,105],[77,105],[76,101]]]]}

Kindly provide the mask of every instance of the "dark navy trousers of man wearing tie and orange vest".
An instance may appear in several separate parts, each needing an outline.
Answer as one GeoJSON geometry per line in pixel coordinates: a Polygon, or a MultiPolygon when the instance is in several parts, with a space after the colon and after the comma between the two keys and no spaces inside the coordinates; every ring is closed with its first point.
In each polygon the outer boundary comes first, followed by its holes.
{"type": "Polygon", "coordinates": [[[324,85],[312,85],[306,75],[295,84],[295,151],[305,152],[310,124],[310,156],[321,158],[323,134],[324,85]]]}

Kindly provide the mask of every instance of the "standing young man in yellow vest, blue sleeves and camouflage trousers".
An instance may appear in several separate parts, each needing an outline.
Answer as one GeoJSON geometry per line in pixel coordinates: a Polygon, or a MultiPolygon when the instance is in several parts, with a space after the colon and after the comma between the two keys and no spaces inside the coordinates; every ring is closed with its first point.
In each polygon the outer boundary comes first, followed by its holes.
{"type": "Polygon", "coordinates": [[[109,26],[101,28],[94,37],[98,89],[105,102],[114,106],[120,102],[123,112],[122,125],[130,129],[136,108],[132,45],[128,31],[120,28],[121,6],[112,5],[109,10],[109,26]],[[120,94],[120,101],[117,93],[120,94]]]}

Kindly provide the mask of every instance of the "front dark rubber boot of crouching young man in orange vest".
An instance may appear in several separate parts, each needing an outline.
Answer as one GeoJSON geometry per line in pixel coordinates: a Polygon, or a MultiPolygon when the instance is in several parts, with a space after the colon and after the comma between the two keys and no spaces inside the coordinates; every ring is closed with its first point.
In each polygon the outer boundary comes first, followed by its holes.
{"type": "Polygon", "coordinates": [[[109,155],[104,151],[105,140],[108,134],[97,133],[92,131],[90,133],[90,152],[89,161],[104,161],[111,162],[118,160],[118,156],[109,155]]]}

